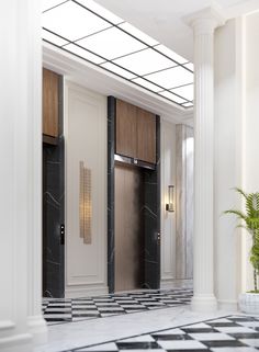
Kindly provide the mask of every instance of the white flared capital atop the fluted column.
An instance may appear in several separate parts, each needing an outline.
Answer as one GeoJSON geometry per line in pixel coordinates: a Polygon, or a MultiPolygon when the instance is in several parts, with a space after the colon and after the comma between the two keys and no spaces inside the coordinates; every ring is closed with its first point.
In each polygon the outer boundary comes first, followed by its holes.
{"type": "Polygon", "coordinates": [[[218,9],[205,8],[185,16],[183,21],[193,29],[194,34],[213,33],[218,26],[225,24],[226,20],[218,9]]]}

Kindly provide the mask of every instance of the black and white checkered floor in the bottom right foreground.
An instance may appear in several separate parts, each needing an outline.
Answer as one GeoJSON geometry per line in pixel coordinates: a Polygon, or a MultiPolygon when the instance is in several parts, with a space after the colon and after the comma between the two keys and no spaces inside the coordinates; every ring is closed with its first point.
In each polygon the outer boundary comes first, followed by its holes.
{"type": "Polygon", "coordinates": [[[255,352],[259,317],[227,316],[67,352],[255,352]]]}

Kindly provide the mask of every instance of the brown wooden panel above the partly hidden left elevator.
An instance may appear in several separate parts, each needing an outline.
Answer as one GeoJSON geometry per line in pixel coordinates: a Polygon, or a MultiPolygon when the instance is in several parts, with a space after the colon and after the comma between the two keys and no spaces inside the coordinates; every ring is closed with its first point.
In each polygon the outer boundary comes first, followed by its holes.
{"type": "Polygon", "coordinates": [[[58,137],[58,80],[59,76],[43,69],[43,134],[58,137]]]}

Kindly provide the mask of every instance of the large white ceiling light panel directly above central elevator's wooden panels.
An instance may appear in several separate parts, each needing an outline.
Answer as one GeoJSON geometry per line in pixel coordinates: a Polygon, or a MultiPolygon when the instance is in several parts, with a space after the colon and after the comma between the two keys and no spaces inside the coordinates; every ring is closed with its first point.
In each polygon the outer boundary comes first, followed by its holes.
{"type": "Polygon", "coordinates": [[[165,56],[153,49],[142,50],[114,60],[117,65],[136,72],[137,75],[147,75],[176,65],[165,56]]]}

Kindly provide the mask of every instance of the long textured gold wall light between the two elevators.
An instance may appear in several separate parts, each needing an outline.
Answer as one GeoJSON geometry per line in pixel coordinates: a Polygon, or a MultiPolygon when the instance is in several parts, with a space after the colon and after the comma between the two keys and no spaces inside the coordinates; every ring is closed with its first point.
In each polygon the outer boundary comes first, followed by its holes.
{"type": "Polygon", "coordinates": [[[83,167],[83,161],[79,162],[79,222],[80,237],[83,243],[92,242],[92,200],[91,200],[91,170],[83,167]]]}

